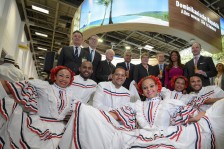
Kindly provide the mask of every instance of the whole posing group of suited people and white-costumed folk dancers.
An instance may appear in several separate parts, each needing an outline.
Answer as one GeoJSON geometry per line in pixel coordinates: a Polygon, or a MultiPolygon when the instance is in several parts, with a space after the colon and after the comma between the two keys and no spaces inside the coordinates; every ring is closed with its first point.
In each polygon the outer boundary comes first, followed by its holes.
{"type": "Polygon", "coordinates": [[[101,61],[97,39],[81,49],[82,33],[73,33],[74,46],[62,48],[51,70],[53,84],[0,78],[0,148],[224,146],[224,91],[207,84],[217,72],[200,44],[186,65],[172,51],[168,65],[159,53],[158,65],[143,54],[134,66],[126,51],[115,67],[112,49],[101,61]]]}

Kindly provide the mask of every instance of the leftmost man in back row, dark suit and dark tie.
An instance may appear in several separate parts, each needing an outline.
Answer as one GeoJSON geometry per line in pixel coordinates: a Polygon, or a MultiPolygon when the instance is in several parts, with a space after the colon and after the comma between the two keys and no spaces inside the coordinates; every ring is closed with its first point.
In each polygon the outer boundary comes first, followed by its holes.
{"type": "Polygon", "coordinates": [[[72,34],[73,46],[63,47],[58,57],[58,66],[63,65],[70,68],[75,74],[79,74],[79,67],[82,62],[87,60],[86,51],[81,49],[83,35],[80,31],[72,34]]]}

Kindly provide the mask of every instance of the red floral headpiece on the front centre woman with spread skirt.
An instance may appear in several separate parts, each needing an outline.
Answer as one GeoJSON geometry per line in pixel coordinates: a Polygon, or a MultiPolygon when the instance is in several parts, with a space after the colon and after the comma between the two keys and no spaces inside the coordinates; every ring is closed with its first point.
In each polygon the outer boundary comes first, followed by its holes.
{"type": "Polygon", "coordinates": [[[147,79],[152,79],[152,80],[154,80],[154,81],[155,81],[155,84],[158,86],[158,92],[161,92],[161,90],[162,90],[162,83],[160,82],[159,78],[150,75],[150,76],[147,76],[147,77],[142,78],[142,79],[138,82],[138,88],[139,88],[138,92],[139,92],[139,94],[141,94],[141,95],[143,94],[142,83],[143,83],[145,80],[147,80],[147,79]]]}

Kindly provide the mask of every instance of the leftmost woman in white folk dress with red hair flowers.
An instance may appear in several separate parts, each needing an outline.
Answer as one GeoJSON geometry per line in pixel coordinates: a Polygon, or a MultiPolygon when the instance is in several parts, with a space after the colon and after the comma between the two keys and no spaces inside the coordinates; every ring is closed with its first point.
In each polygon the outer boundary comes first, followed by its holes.
{"type": "Polygon", "coordinates": [[[0,99],[0,116],[6,121],[0,129],[0,148],[57,148],[71,115],[68,86],[73,76],[67,67],[57,66],[51,70],[52,85],[41,80],[1,81],[1,90],[4,87],[13,98],[5,94],[0,99]],[[12,100],[15,104],[7,104],[12,100]]]}

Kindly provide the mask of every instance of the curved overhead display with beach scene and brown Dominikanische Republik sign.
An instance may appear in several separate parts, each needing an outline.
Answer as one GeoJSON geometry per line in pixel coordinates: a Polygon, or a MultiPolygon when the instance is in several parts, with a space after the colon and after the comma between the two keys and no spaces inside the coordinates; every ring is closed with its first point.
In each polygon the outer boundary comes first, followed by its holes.
{"type": "MultiPolygon", "coordinates": [[[[143,1],[143,4],[142,1],[135,2],[135,8],[138,9],[134,9],[128,0],[114,0],[107,6],[85,0],[80,6],[79,29],[86,39],[92,34],[119,30],[158,32],[186,41],[194,39],[213,54],[222,51],[220,16],[199,1],[143,1]],[[123,3],[128,3],[128,7],[123,3]],[[122,13],[118,13],[120,11],[122,13]]],[[[77,18],[79,17],[76,15],[74,20],[78,21],[77,18]]]]}

